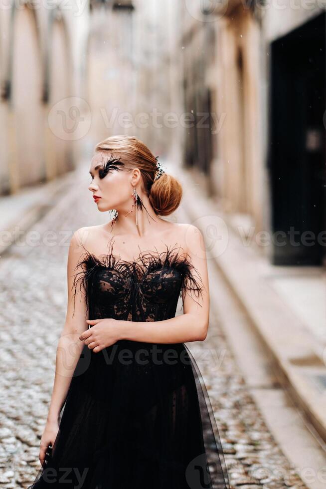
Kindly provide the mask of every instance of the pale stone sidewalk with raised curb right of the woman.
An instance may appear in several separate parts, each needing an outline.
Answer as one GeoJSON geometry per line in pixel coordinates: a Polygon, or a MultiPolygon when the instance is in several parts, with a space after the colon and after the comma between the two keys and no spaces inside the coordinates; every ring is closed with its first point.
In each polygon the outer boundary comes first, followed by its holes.
{"type": "MultiPolygon", "coordinates": [[[[182,203],[198,229],[200,218],[207,215],[222,217],[213,203],[202,197],[200,188],[184,171],[181,180],[184,182],[182,203]]],[[[316,430],[315,436],[323,444],[326,442],[325,388],[319,387],[316,379],[320,378],[321,383],[326,380],[326,367],[316,354],[316,340],[271,287],[268,277],[260,274],[259,262],[264,258],[255,255],[252,249],[248,251],[232,229],[228,232],[228,248],[220,256],[210,258],[214,259],[273,358],[279,382],[304,412],[316,430]],[[295,334],[293,324],[296,324],[295,334]]],[[[205,238],[205,233],[203,236],[205,238]]]]}

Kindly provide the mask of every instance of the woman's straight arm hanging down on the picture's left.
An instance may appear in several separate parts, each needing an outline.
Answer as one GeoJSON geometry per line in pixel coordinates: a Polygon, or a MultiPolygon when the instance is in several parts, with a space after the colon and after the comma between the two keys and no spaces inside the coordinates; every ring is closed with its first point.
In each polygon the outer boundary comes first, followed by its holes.
{"type": "Polygon", "coordinates": [[[46,450],[49,444],[53,446],[58,433],[60,412],[65,402],[75,367],[84,347],[84,343],[79,340],[79,335],[88,329],[86,322],[88,311],[84,287],[76,287],[75,297],[73,294],[74,274],[82,271],[77,267],[84,252],[84,248],[80,245],[80,234],[81,230],[75,231],[69,245],[67,262],[67,314],[58,341],[52,396],[40,444],[39,461],[42,466],[46,450]]]}

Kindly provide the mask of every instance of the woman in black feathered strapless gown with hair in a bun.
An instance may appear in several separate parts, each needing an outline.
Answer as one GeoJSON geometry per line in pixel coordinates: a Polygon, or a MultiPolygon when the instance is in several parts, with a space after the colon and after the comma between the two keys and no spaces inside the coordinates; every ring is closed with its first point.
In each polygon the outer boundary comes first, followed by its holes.
{"type": "Polygon", "coordinates": [[[115,216],[70,242],[42,468],[28,489],[229,488],[209,398],[183,344],[207,335],[203,238],[159,217],[178,207],[180,183],[130,136],[99,143],[90,175],[98,210],[115,216]]]}

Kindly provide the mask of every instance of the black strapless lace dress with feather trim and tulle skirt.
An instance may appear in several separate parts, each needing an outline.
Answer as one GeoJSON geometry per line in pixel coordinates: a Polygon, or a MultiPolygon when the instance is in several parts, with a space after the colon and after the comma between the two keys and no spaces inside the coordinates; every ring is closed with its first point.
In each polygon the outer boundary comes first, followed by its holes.
{"type": "MultiPolygon", "coordinates": [[[[165,246],[135,261],[112,247],[102,259],[84,248],[74,295],[78,285],[86,291],[89,318],[155,328],[175,316],[179,296],[198,298],[196,268],[165,246]]],[[[119,340],[97,353],[84,345],[52,452],[28,489],[229,487],[210,400],[184,343],[119,340]]]]}

